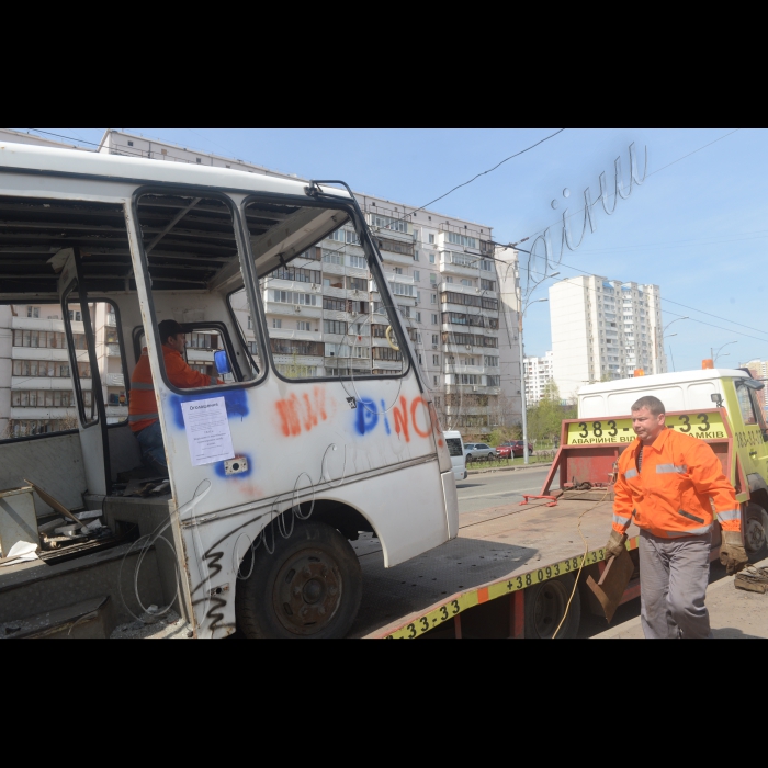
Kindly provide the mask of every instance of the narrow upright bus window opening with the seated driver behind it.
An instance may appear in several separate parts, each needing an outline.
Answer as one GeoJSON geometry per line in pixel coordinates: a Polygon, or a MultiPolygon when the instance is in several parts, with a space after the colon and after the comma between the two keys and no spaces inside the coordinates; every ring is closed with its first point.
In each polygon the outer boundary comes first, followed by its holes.
{"type": "Polygon", "coordinates": [[[154,324],[173,319],[181,325],[187,363],[208,380],[202,387],[167,383],[178,389],[197,389],[216,386],[211,384],[216,380],[225,384],[256,380],[259,343],[252,318],[257,313],[244,287],[230,201],[210,192],[148,192],[138,197],[136,211],[151,282],[154,324]],[[234,303],[233,294],[238,296],[234,303]],[[228,371],[219,370],[216,360],[226,362],[228,371]]]}

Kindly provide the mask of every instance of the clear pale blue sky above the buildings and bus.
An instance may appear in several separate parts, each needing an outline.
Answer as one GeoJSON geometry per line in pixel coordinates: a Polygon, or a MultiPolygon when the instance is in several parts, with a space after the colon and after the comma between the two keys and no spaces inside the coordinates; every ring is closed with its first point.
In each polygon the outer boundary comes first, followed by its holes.
{"type": "MultiPolygon", "coordinates": [[[[555,129],[126,128],[303,177],[343,179],[354,190],[409,205],[428,203],[555,129]]],[[[82,142],[98,142],[103,134],[103,128],[46,131],[82,142]]],[[[666,349],[669,354],[671,348],[678,371],[700,368],[710,348],[732,341],[737,343],[723,350],[719,365],[768,359],[763,304],[768,132],[741,129],[684,157],[731,131],[569,128],[433,208],[487,224],[497,242],[520,240],[547,225],[555,225],[552,231],[558,241],[556,225],[564,206],[569,203],[575,210],[587,187],[597,197],[602,171],[612,185],[613,160],[619,156],[628,178],[632,142],[642,172],[647,146],[648,179],[629,200],[618,202],[612,216],[598,204],[597,231],[588,230],[581,247],[566,250],[563,264],[555,269],[563,278],[579,274],[569,268],[575,267],[614,280],[656,283],[663,300],[687,305],[662,304],[665,325],[677,316],[691,318],[667,331],[677,334],[667,338],[666,349]],[[566,188],[567,202],[562,196],[566,188]],[[555,199],[556,211],[551,207],[555,199]]],[[[573,222],[578,234],[579,216],[573,222]]],[[[530,241],[522,247],[527,245],[530,241]]],[[[542,286],[532,298],[544,296],[542,286]]],[[[550,348],[547,304],[527,312],[524,337],[529,354],[550,348]]]]}

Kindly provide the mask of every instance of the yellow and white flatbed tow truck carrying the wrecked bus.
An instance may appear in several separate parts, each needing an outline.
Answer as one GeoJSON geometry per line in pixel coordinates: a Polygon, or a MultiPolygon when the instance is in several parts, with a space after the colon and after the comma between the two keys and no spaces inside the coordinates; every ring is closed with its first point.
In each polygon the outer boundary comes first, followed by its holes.
{"type": "MultiPolygon", "coordinates": [[[[403,615],[361,614],[362,636],[573,637],[581,611],[603,609],[587,587],[606,567],[612,479],[634,440],[631,406],[655,395],[669,429],[709,443],[736,489],[752,562],[768,556],[768,428],[756,393],[764,384],[746,370],[712,369],[591,384],[578,393],[578,418],[563,421],[561,448],[535,496],[520,505],[460,516],[456,540],[386,575],[362,557],[373,602],[409,607],[403,615]],[[578,577],[578,578],[577,578],[578,577]],[[573,595],[573,599],[571,599],[573,595]],[[443,597],[444,596],[444,597],[443,597]],[[567,609],[568,600],[571,606],[567,609]]],[[[635,566],[620,603],[640,596],[639,530],[626,547],[635,566]]],[[[710,560],[720,554],[713,528],[710,560]]],[[[603,614],[605,615],[605,614],[603,614]]]]}

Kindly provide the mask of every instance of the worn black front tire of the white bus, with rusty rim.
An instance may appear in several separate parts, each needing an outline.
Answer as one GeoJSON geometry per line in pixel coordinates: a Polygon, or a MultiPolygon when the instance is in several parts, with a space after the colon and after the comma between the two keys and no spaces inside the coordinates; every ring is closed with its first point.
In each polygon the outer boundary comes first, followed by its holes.
{"type": "Polygon", "coordinates": [[[274,552],[262,541],[242,562],[250,575],[237,581],[238,629],[252,639],[343,637],[362,597],[349,541],[321,522],[296,520],[287,539],[274,530],[274,552]]]}

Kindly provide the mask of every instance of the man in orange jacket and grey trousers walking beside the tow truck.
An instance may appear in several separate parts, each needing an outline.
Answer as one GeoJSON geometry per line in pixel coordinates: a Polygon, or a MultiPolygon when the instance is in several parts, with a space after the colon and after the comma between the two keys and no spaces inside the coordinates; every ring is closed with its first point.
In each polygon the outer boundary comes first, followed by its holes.
{"type": "Polygon", "coordinates": [[[720,562],[729,574],[747,563],[736,492],[702,440],[666,428],[657,397],[632,406],[637,439],[621,454],[607,556],[618,555],[634,518],[640,528],[640,599],[648,639],[709,637],[704,605],[714,513],[720,562]]]}

